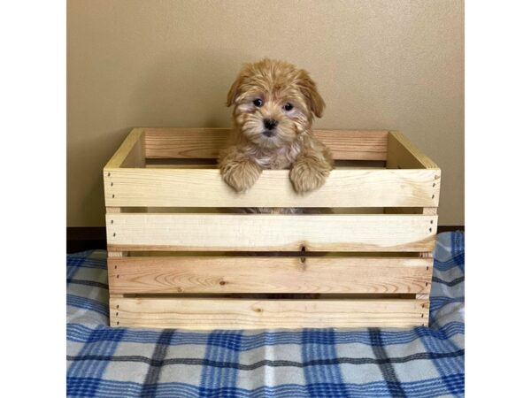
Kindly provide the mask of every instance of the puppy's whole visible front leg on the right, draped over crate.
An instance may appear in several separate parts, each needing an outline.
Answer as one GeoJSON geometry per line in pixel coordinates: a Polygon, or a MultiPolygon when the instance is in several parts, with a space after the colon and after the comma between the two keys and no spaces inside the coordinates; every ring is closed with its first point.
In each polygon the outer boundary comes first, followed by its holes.
{"type": "Polygon", "coordinates": [[[334,161],[326,148],[305,147],[291,167],[289,179],[296,192],[304,194],[322,187],[333,168],[334,161]]]}

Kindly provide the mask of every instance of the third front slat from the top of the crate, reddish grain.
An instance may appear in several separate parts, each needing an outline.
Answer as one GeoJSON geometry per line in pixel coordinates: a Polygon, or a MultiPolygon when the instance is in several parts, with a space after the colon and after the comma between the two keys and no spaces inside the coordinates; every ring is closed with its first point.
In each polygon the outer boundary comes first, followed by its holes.
{"type": "Polygon", "coordinates": [[[429,258],[110,258],[112,293],[424,293],[429,258]]]}

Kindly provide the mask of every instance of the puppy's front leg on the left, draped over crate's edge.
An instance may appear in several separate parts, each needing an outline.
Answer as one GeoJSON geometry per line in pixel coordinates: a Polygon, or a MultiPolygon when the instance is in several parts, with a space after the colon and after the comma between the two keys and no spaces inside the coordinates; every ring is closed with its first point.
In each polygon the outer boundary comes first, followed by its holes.
{"type": "Polygon", "coordinates": [[[219,157],[219,171],[236,192],[245,192],[257,182],[262,169],[237,147],[230,147],[219,157]]]}

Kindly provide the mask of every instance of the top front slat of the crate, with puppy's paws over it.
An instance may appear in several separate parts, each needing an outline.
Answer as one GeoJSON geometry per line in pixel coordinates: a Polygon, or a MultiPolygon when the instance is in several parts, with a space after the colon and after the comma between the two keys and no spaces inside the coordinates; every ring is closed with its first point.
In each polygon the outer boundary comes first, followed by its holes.
{"type": "Polygon", "coordinates": [[[434,170],[337,169],[306,195],[296,194],[288,170],[262,172],[245,194],[230,188],[217,169],[107,170],[107,206],[433,207],[439,200],[434,170]]]}

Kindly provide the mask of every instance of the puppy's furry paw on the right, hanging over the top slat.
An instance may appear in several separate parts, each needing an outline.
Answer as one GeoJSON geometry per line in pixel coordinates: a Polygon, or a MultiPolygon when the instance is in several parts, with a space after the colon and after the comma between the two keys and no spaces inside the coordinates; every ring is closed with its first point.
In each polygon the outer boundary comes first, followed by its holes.
{"type": "Polygon", "coordinates": [[[331,167],[326,162],[312,158],[298,159],[289,172],[289,180],[299,194],[323,186],[330,174],[331,167]]]}

